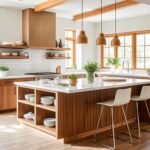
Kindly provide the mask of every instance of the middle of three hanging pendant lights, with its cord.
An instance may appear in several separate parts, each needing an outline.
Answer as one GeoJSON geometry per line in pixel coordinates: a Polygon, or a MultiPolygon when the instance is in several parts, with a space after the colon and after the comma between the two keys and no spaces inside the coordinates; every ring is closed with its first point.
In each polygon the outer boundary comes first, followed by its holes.
{"type": "Polygon", "coordinates": [[[99,37],[96,39],[96,45],[106,45],[106,39],[104,37],[104,34],[102,33],[102,29],[103,29],[103,19],[102,19],[102,0],[101,0],[101,33],[99,34],[99,37]]]}

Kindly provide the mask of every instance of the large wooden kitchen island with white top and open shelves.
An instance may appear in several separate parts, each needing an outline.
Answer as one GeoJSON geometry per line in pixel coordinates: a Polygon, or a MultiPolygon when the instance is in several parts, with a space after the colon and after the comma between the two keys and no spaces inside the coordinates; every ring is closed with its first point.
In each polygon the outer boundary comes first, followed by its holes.
{"type": "MultiPolygon", "coordinates": [[[[69,83],[62,80],[62,83],[69,83]]],[[[53,81],[42,84],[39,81],[18,82],[17,85],[17,117],[18,120],[56,136],[57,139],[64,138],[64,142],[70,142],[79,138],[95,134],[100,107],[97,102],[114,99],[117,89],[132,88],[132,96],[139,95],[143,85],[150,85],[150,80],[127,78],[122,82],[103,81],[97,77],[93,84],[88,84],[86,78],[78,79],[76,87],[60,86],[53,81]],[[35,95],[34,103],[24,100],[24,95],[32,93],[35,95]],[[44,106],[40,103],[42,96],[53,96],[56,105],[44,106]],[[34,120],[26,120],[23,115],[34,112],[34,120]],[[56,118],[56,127],[49,128],[43,125],[47,117],[56,118]]],[[[105,109],[101,120],[99,133],[111,129],[110,110],[105,109]]],[[[122,126],[123,115],[120,108],[115,109],[115,127],[122,126]]],[[[142,114],[144,115],[144,114],[142,114]]],[[[128,106],[128,122],[134,123],[136,111],[134,103],[128,106]]]]}

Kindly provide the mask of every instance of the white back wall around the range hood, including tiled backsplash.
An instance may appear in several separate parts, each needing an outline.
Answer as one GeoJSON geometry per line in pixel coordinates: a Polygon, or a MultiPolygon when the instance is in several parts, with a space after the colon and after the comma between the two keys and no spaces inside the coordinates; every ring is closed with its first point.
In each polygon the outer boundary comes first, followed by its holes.
{"type": "MultiPolygon", "coordinates": [[[[22,40],[22,11],[11,8],[0,7],[0,41],[18,41],[22,40]]],[[[65,29],[71,28],[80,30],[80,22],[72,22],[64,18],[56,19],[57,39],[63,39],[65,29]]],[[[96,46],[95,34],[96,24],[85,23],[86,34],[89,43],[85,46],[77,46],[77,51],[81,52],[81,56],[77,58],[77,64],[82,67],[88,59],[95,60],[96,46]]],[[[10,51],[1,49],[1,51],[10,51]]],[[[11,50],[12,51],[12,50],[11,50]]],[[[29,53],[29,60],[0,60],[0,65],[8,66],[10,74],[23,74],[33,71],[55,71],[57,65],[65,64],[64,60],[47,60],[45,59],[45,50],[24,50],[29,53]]]]}

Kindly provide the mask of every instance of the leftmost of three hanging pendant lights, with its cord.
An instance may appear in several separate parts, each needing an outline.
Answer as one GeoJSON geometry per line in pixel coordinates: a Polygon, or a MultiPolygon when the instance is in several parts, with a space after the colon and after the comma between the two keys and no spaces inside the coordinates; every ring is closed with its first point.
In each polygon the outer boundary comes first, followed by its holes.
{"type": "Polygon", "coordinates": [[[88,39],[85,34],[85,31],[83,30],[83,0],[81,0],[81,11],[82,11],[82,22],[81,22],[81,31],[77,37],[77,43],[78,44],[87,44],[88,39]]]}

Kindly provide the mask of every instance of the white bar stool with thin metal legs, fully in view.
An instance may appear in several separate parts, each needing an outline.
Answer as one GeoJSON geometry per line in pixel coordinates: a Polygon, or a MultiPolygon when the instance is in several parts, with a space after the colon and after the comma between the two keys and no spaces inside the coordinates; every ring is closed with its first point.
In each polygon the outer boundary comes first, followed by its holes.
{"type": "Polygon", "coordinates": [[[109,101],[106,101],[106,102],[98,102],[97,103],[98,105],[101,105],[101,111],[100,111],[100,116],[99,116],[98,123],[97,123],[97,128],[95,130],[94,141],[96,141],[97,129],[98,129],[99,124],[100,124],[100,120],[101,120],[102,113],[103,113],[103,108],[104,107],[108,107],[108,108],[111,109],[113,147],[110,147],[110,146],[107,146],[107,145],[105,145],[105,146],[109,147],[111,149],[116,149],[115,127],[114,127],[114,107],[121,106],[122,107],[123,116],[125,118],[125,122],[126,122],[127,129],[128,129],[128,132],[129,132],[129,137],[130,137],[131,143],[133,143],[131,132],[130,132],[130,128],[129,128],[127,117],[126,117],[126,113],[125,113],[125,109],[124,109],[124,105],[127,105],[130,102],[130,99],[131,99],[131,88],[119,89],[116,92],[114,100],[109,100],[109,101]]]}

